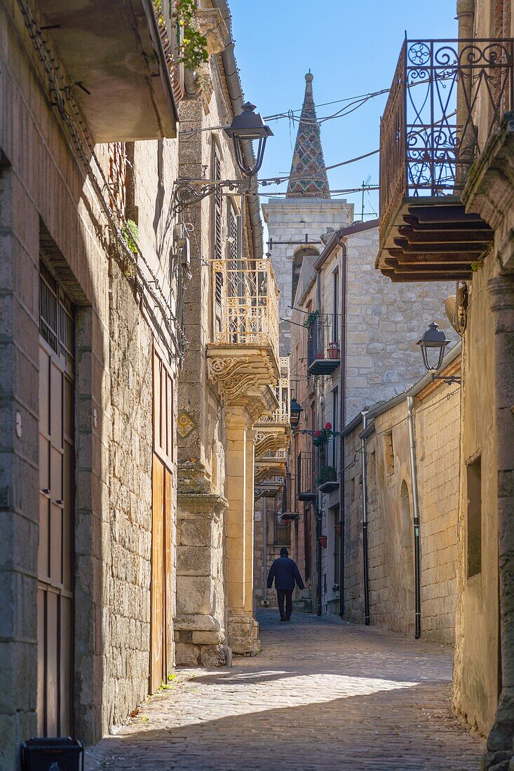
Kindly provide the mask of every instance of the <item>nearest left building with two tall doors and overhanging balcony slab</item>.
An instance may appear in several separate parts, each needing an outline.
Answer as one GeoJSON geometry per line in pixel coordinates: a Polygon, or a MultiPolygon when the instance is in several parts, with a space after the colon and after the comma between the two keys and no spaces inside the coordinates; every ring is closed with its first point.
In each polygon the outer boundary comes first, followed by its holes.
{"type": "Polygon", "coordinates": [[[119,13],[0,4],[2,771],[174,665],[180,68],[171,19],[119,13]]]}

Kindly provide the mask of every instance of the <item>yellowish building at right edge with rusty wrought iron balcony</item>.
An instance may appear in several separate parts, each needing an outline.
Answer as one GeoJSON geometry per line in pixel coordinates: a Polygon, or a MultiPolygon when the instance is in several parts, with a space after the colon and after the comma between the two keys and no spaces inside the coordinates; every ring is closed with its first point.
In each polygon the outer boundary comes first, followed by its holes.
{"type": "Polygon", "coordinates": [[[401,51],[381,122],[377,268],[404,285],[458,282],[463,382],[454,702],[488,734],[483,767],[507,769],[514,736],[514,126],[506,111],[514,108],[514,14],[511,0],[458,0],[457,12],[460,42],[441,43],[445,79],[455,88],[431,120],[417,110],[412,91],[412,99],[404,96],[432,62],[428,89],[435,93],[439,43],[407,40],[401,51]],[[441,122],[447,150],[431,165],[433,151],[425,152],[423,138],[441,122]],[[397,126],[409,128],[398,134],[397,126]]]}

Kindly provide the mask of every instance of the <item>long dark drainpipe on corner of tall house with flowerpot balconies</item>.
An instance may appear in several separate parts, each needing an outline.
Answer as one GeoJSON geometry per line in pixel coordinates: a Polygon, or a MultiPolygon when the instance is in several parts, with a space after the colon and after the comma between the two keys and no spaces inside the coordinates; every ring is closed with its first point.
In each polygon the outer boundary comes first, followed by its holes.
{"type": "Polygon", "coordinates": [[[340,525],[340,566],[339,566],[339,614],[344,615],[344,436],[343,429],[346,423],[347,401],[347,247],[340,240],[341,247],[341,323],[340,323],[340,421],[339,421],[339,525],[340,525]]]}

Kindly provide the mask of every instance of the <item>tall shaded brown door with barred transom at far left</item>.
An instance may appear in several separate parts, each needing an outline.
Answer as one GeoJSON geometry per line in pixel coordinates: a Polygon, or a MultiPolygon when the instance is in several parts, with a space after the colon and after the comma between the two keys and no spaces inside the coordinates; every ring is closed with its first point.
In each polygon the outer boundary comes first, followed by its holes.
{"type": "Polygon", "coordinates": [[[39,280],[39,736],[72,725],[73,308],[45,266],[39,280]]]}

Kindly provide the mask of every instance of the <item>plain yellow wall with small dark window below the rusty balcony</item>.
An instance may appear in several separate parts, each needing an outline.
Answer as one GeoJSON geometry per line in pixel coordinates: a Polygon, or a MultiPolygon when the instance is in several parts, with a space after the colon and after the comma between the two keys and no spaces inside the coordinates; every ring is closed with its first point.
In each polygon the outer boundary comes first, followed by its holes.
{"type": "MultiPolygon", "coordinates": [[[[492,255],[491,255],[492,256],[492,255]]],[[[488,284],[499,262],[487,259],[473,274],[463,346],[461,497],[458,554],[458,625],[454,704],[487,734],[499,697],[498,487],[495,419],[495,334],[488,284]],[[480,458],[481,564],[468,575],[468,464],[480,458]]],[[[508,412],[506,410],[506,412],[508,412]]]]}

